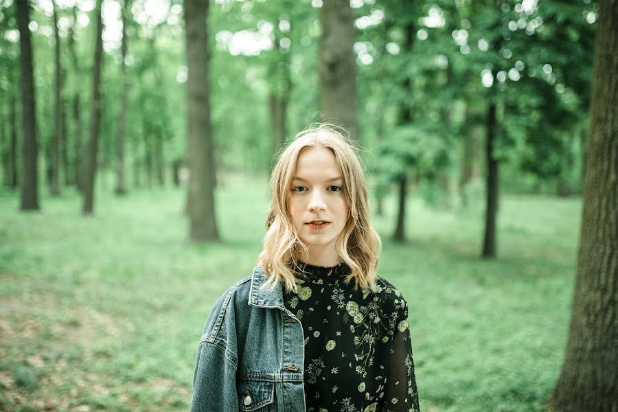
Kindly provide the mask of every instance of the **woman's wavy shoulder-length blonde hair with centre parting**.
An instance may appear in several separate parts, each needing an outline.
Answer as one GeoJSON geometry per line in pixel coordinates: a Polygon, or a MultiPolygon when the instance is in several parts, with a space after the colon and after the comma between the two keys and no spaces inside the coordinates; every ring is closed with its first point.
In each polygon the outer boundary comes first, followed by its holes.
{"type": "Polygon", "coordinates": [[[271,209],[266,219],[264,250],[258,257],[258,264],[264,268],[268,277],[265,286],[274,289],[281,282],[286,288],[297,290],[295,270],[299,269],[298,256],[306,252],[307,247],[294,229],[287,201],[299,155],[307,148],[315,147],[332,150],[343,177],[342,192],[348,216],[336,240],[336,250],[343,262],[352,269],[345,277],[345,282],[354,280],[355,289],[361,286],[374,290],[382,241],[369,221],[363,168],[350,141],[334,126],[326,124],[313,124],[297,134],[279,156],[273,169],[271,209]]]}

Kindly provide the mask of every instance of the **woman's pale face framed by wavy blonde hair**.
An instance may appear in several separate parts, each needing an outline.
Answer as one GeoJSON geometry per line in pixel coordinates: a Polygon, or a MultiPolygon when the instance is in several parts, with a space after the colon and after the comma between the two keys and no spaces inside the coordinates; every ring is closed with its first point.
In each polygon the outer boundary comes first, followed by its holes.
{"type": "Polygon", "coordinates": [[[336,240],[347,222],[343,176],[332,150],[303,150],[290,183],[288,211],[296,233],[310,257],[332,264],[338,258],[336,240]]]}

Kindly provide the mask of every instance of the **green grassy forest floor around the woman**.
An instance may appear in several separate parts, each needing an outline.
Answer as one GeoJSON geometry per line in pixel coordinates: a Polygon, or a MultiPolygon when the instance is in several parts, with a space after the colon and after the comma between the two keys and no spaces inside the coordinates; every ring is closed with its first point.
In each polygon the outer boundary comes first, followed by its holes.
{"type": "MultiPolygon", "coordinates": [[[[76,194],[23,214],[0,192],[0,410],[188,409],[203,323],[251,273],[267,200],[263,182],[227,181],[224,242],[193,245],[184,198],[101,194],[82,218],[76,194]]],[[[393,199],[385,209],[380,274],[409,301],[422,409],[542,411],[562,363],[580,201],[503,196],[490,262],[477,258],[480,204],[411,198],[405,245],[387,240],[393,199]]]]}

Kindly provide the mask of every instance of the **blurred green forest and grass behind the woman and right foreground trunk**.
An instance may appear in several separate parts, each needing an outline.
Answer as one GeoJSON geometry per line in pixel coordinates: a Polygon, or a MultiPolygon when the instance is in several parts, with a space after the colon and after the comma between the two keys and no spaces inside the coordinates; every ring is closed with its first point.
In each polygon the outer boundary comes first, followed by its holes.
{"type": "Polygon", "coordinates": [[[0,0],[0,409],[187,410],[207,314],[261,251],[277,150],[336,121],[409,302],[422,409],[547,410],[598,14],[0,0]]]}

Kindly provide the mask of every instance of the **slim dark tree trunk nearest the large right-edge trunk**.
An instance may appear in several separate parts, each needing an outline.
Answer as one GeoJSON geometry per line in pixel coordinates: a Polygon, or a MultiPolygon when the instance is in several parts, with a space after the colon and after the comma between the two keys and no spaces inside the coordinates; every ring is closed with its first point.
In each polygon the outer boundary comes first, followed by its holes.
{"type": "Polygon", "coordinates": [[[498,214],[498,161],[494,157],[496,140],[496,104],[490,102],[487,110],[487,137],[485,159],[487,161],[487,206],[485,208],[485,237],[483,258],[496,257],[496,215],[498,214]]]}

